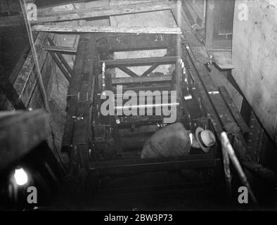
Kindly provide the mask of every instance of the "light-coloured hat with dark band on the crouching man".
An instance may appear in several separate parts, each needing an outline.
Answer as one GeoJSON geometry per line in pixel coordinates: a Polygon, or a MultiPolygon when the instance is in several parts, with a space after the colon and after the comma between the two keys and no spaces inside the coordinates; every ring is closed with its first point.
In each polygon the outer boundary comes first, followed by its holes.
{"type": "Polygon", "coordinates": [[[210,151],[210,147],[215,143],[215,136],[212,131],[202,129],[202,127],[198,127],[196,129],[195,139],[205,153],[208,153],[210,151]]]}

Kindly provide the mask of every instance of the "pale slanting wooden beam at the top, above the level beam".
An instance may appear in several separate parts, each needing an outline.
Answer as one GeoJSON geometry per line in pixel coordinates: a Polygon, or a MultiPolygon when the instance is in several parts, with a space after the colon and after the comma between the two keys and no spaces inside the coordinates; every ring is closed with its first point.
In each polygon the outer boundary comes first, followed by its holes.
{"type": "MultiPolygon", "coordinates": [[[[80,4],[78,8],[75,7],[70,10],[53,11],[52,8],[40,8],[37,11],[37,20],[30,20],[30,23],[34,25],[68,20],[84,20],[86,18],[101,18],[110,15],[162,11],[175,7],[176,3],[172,1],[153,1],[141,4],[123,4],[118,6],[101,7],[94,7],[92,4],[84,3],[80,4]]],[[[2,17],[0,20],[0,27],[22,25],[23,21],[22,15],[2,17]]]]}

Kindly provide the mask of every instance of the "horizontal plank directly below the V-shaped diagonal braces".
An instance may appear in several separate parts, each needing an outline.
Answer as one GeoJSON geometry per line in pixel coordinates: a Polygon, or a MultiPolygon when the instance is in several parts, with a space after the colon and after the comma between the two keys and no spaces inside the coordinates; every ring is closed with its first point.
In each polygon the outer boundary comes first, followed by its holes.
{"type": "Polygon", "coordinates": [[[145,82],[171,82],[172,76],[162,77],[118,77],[112,78],[112,84],[131,84],[131,83],[145,83],[145,82]]]}

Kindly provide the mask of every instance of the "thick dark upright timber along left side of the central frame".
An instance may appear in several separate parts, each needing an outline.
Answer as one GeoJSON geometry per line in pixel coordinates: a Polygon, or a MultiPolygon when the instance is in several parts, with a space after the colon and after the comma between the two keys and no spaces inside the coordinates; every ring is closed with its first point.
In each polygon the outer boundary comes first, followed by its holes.
{"type": "Polygon", "coordinates": [[[63,134],[63,146],[77,150],[82,167],[86,167],[89,160],[92,141],[91,103],[95,85],[95,59],[94,35],[82,34],[67,94],[67,122],[63,134]]]}

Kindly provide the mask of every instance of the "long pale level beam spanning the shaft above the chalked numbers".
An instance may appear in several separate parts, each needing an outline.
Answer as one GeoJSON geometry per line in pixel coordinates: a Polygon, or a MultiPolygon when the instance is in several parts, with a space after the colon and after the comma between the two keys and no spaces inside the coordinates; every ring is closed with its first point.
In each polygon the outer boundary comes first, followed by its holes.
{"type": "Polygon", "coordinates": [[[76,25],[34,25],[32,31],[55,33],[129,33],[129,34],[182,34],[179,27],[110,27],[76,25]]]}

